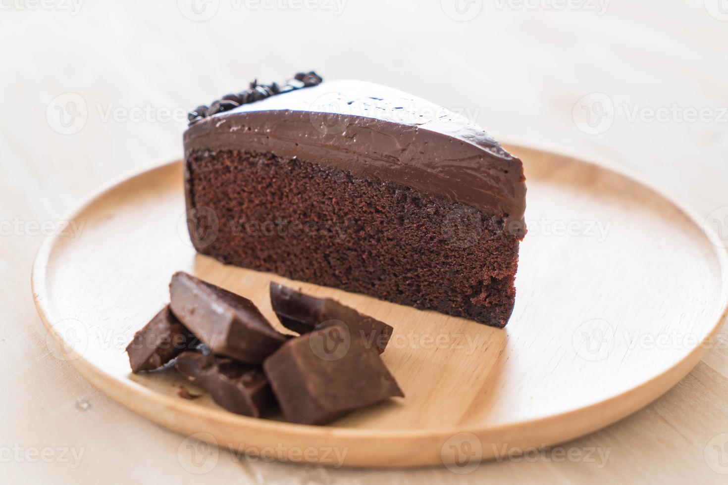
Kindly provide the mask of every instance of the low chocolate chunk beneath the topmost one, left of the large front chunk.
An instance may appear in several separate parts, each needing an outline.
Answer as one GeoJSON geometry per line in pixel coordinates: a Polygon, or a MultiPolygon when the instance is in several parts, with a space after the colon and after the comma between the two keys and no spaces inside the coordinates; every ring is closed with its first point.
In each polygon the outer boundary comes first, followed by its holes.
{"type": "Polygon", "coordinates": [[[261,417],[275,405],[275,398],[260,366],[241,364],[226,357],[199,352],[182,353],[175,369],[201,385],[224,409],[261,417]]]}

